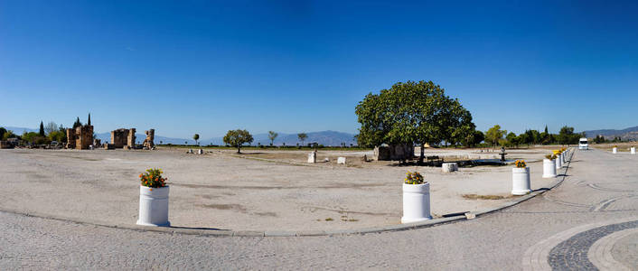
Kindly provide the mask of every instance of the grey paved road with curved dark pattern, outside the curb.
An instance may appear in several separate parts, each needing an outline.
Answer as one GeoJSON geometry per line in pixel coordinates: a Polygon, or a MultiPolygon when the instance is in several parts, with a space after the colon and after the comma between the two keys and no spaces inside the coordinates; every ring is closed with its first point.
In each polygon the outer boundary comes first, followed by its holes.
{"type": "Polygon", "coordinates": [[[636,269],[636,164],[577,152],[563,184],[508,210],[362,236],[207,238],[0,212],[0,269],[636,269]]]}

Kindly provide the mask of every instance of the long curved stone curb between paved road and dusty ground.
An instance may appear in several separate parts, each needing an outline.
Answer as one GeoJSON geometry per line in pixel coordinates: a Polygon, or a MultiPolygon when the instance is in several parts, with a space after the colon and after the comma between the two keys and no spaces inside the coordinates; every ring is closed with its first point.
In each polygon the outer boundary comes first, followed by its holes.
{"type": "MultiPolygon", "coordinates": [[[[573,149],[573,148],[572,148],[573,149]]],[[[574,151],[571,151],[569,154],[568,162],[566,168],[560,169],[562,174],[562,178],[556,178],[557,180],[552,182],[547,189],[539,190],[536,192],[530,192],[527,195],[516,198],[514,201],[508,201],[504,205],[500,207],[496,207],[489,210],[482,210],[477,212],[469,212],[474,214],[477,218],[483,215],[498,211],[505,210],[512,206],[518,205],[523,201],[528,201],[531,198],[534,198],[540,194],[545,192],[549,192],[554,189],[567,178],[567,173],[569,169],[569,165],[571,164],[571,159],[574,156],[574,151]]],[[[207,237],[317,237],[317,236],[345,236],[345,235],[364,235],[370,233],[381,233],[381,232],[392,232],[392,231],[403,231],[410,229],[424,229],[430,228],[438,225],[444,225],[448,223],[454,223],[461,220],[468,220],[465,214],[460,214],[453,217],[448,218],[440,218],[434,220],[427,220],[422,222],[415,223],[406,223],[406,224],[398,224],[398,225],[388,225],[388,226],[380,226],[373,228],[364,228],[364,229],[331,229],[331,230],[301,230],[301,231],[287,231],[287,230],[225,230],[225,229],[184,229],[184,228],[171,228],[171,227],[148,227],[148,226],[138,226],[138,225],[125,225],[125,224],[108,224],[94,220],[74,220],[67,217],[61,216],[51,216],[44,215],[38,212],[23,212],[19,210],[2,210],[0,212],[12,213],[16,215],[22,215],[25,217],[34,217],[46,220],[59,220],[65,222],[71,222],[82,225],[96,226],[96,227],[106,227],[113,229],[129,229],[136,231],[153,231],[158,233],[165,234],[183,234],[183,235],[201,235],[207,237]]]]}

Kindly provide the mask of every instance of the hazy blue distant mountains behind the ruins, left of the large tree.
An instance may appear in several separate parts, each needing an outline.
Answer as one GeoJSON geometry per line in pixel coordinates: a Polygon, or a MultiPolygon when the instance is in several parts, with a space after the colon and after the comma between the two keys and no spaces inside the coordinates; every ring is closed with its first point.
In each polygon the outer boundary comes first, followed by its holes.
{"type": "MultiPolygon", "coordinates": [[[[15,135],[22,135],[24,132],[38,132],[39,129],[31,129],[24,127],[11,127],[5,126],[5,129],[14,131],[15,135]]],[[[278,133],[277,138],[275,139],[274,145],[296,145],[301,144],[297,134],[286,134],[286,133],[278,133]]],[[[96,134],[97,138],[99,138],[103,143],[110,142],[111,133],[99,133],[96,134]]],[[[338,146],[338,145],[357,145],[356,140],[354,140],[353,134],[336,132],[336,131],[320,131],[320,132],[308,132],[305,133],[308,135],[308,138],[305,139],[304,144],[308,143],[317,143],[319,145],[325,146],[338,146]]],[[[146,135],[137,134],[136,133],[136,141],[141,144],[144,142],[146,135]]],[[[254,141],[252,145],[270,145],[270,139],[268,139],[268,134],[256,134],[253,135],[254,141]]],[[[176,137],[166,137],[162,135],[155,135],[155,144],[174,144],[174,145],[182,145],[187,143],[189,145],[194,145],[195,141],[192,138],[176,138],[176,137]]],[[[200,145],[224,145],[223,137],[211,137],[208,139],[199,140],[200,145]]]]}

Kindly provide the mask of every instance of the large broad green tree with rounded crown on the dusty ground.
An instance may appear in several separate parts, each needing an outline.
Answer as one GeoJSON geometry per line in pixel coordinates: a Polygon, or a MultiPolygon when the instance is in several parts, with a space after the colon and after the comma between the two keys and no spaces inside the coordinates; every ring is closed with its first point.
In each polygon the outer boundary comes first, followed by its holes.
{"type": "Polygon", "coordinates": [[[361,124],[358,144],[374,146],[415,143],[423,146],[463,143],[474,135],[472,115],[457,99],[432,81],[407,81],[368,94],[355,109],[361,124]]]}

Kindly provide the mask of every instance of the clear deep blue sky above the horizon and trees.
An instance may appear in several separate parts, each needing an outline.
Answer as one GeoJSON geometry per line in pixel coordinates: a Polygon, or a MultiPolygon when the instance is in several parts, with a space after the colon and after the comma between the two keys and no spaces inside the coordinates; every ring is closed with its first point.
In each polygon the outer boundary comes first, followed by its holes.
{"type": "Polygon", "coordinates": [[[433,80],[483,131],[638,126],[638,2],[5,1],[0,125],[355,133],[433,80]]]}

